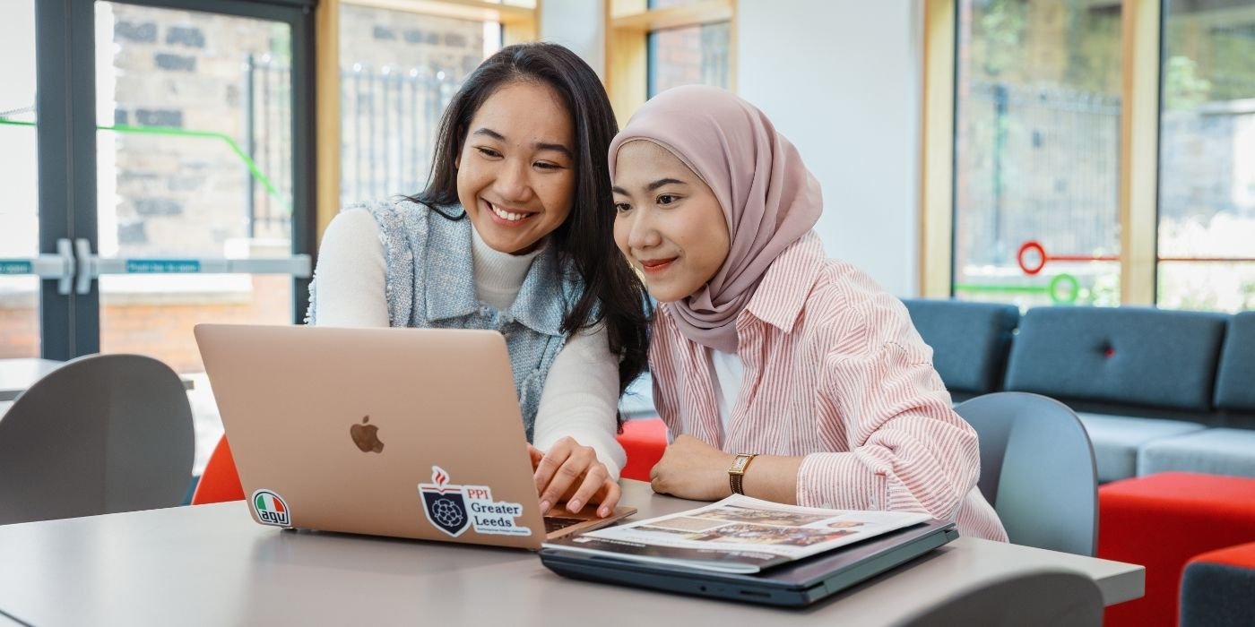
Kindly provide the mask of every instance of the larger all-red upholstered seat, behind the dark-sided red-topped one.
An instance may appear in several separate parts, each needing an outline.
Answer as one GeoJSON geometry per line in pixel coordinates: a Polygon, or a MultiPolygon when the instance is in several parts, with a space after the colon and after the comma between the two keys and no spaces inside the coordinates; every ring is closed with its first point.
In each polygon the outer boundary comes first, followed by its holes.
{"type": "Polygon", "coordinates": [[[1162,473],[1098,489],[1098,557],[1146,567],[1146,594],[1107,609],[1107,626],[1173,626],[1192,557],[1255,540],[1255,479],[1162,473]]]}

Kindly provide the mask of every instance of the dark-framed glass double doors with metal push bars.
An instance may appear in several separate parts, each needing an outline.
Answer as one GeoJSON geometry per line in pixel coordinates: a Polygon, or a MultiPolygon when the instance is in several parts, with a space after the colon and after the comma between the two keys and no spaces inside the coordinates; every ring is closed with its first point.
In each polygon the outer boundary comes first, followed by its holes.
{"type": "Polygon", "coordinates": [[[25,24],[0,25],[18,60],[0,64],[0,352],[162,360],[193,382],[198,470],[221,423],[192,327],[307,303],[314,0],[19,4],[25,24]]]}

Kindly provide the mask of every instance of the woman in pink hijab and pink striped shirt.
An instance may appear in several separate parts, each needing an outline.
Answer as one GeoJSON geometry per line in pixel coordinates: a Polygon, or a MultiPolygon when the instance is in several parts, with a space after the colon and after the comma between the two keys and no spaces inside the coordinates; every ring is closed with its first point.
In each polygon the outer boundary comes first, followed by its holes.
{"type": "Polygon", "coordinates": [[[615,242],[659,301],[649,362],[675,439],[655,492],[926,512],[1007,539],[931,349],[897,298],[825,257],[820,184],[762,112],[675,88],[609,159],[615,242]]]}

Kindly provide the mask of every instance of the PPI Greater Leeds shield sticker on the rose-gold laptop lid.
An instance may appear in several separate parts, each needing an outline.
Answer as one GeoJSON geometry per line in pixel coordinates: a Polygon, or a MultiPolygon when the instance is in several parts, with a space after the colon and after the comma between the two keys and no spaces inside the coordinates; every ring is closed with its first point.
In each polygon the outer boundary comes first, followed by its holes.
{"type": "Polygon", "coordinates": [[[457,485],[449,483],[449,473],[432,466],[432,483],[418,484],[423,498],[423,513],[437,529],[453,538],[468,528],[491,535],[531,535],[532,529],[515,519],[523,515],[518,503],[492,500],[487,485],[457,485]]]}

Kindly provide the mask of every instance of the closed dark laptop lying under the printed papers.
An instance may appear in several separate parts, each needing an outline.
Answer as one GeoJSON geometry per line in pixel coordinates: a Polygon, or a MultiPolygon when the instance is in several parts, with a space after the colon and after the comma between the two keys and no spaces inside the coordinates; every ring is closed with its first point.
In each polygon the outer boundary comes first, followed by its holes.
{"type": "Polygon", "coordinates": [[[553,548],[541,551],[541,563],[575,579],[724,601],[804,607],[916,559],[958,537],[953,522],[931,520],[756,574],[626,562],[553,548]]]}

